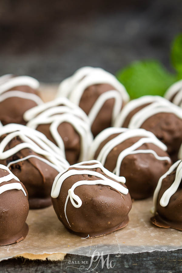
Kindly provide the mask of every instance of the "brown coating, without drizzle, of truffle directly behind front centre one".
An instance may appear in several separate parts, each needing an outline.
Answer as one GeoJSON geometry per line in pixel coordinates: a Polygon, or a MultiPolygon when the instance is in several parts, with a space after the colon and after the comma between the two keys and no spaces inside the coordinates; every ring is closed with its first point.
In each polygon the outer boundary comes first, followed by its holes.
{"type": "MultiPolygon", "coordinates": [[[[49,140],[56,144],[56,141],[52,137],[49,130],[50,125],[51,124],[40,124],[37,126],[36,130],[44,133],[49,140]]],[[[66,160],[68,160],[68,162],[73,165],[78,162],[79,159],[81,148],[80,136],[73,128],[73,126],[68,122],[61,123],[57,130],[64,142],[66,160]]]]}

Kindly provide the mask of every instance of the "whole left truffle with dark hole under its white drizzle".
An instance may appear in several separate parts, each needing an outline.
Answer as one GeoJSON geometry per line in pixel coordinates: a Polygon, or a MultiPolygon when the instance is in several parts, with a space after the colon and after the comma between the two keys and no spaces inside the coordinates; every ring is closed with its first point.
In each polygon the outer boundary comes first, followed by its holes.
{"type": "Polygon", "coordinates": [[[0,163],[25,185],[34,209],[51,205],[54,178],[69,166],[61,149],[44,134],[20,124],[1,128],[0,163]]]}

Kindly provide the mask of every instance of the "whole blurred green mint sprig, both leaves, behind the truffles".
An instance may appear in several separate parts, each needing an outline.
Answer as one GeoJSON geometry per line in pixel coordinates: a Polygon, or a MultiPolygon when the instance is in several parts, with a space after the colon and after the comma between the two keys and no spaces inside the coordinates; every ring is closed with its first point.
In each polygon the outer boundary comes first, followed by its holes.
{"type": "Polygon", "coordinates": [[[137,61],[117,72],[131,99],[144,95],[163,96],[167,88],[182,79],[182,33],[177,35],[171,47],[171,62],[176,74],[171,74],[156,60],[137,61]]]}

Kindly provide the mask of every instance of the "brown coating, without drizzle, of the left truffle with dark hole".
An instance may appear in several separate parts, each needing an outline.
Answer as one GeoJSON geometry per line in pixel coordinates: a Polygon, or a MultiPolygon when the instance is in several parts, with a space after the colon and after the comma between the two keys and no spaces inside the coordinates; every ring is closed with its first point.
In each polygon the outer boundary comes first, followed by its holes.
{"type": "MultiPolygon", "coordinates": [[[[4,137],[5,135],[0,138],[0,142],[4,137]]],[[[19,137],[13,138],[5,147],[5,151],[15,147],[19,143],[22,143],[22,140],[19,137]]],[[[30,154],[42,157],[34,151],[25,148],[14,154],[12,157],[0,160],[0,163],[7,166],[9,162],[26,157],[30,154]]],[[[14,163],[9,167],[9,169],[25,185],[29,193],[29,205],[31,209],[48,207],[52,204],[50,194],[52,183],[58,174],[57,170],[37,158],[29,158],[14,163]]]]}

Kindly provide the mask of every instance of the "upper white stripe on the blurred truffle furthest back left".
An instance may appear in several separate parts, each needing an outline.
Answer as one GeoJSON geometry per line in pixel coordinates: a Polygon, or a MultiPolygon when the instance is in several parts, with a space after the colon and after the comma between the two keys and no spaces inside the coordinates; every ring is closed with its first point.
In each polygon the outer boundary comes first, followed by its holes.
{"type": "Polygon", "coordinates": [[[30,86],[33,89],[39,88],[38,80],[29,76],[18,76],[18,77],[10,78],[5,83],[2,83],[0,85],[0,94],[4,93],[5,91],[9,89],[12,89],[13,87],[22,86],[22,85],[30,86]]]}

